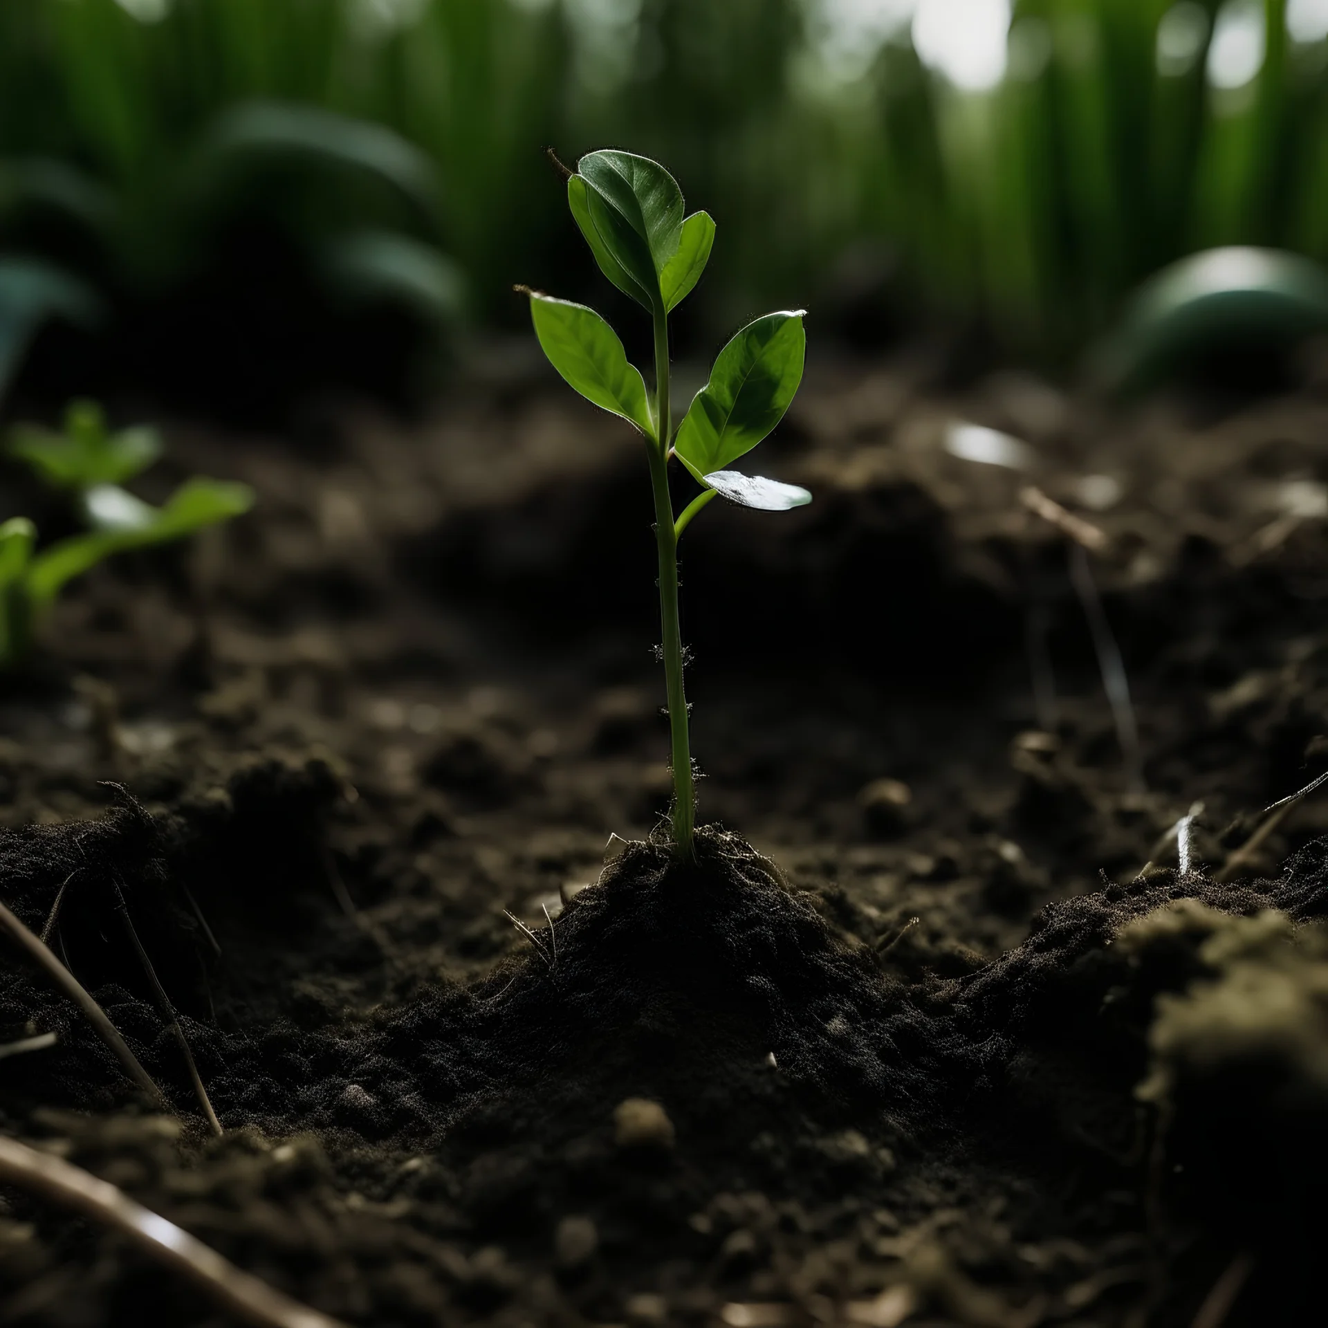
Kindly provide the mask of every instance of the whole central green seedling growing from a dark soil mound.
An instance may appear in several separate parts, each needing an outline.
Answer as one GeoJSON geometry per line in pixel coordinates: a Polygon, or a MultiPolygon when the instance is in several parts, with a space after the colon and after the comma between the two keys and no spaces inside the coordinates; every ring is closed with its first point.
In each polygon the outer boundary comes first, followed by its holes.
{"type": "Polygon", "coordinates": [[[620,416],[645,440],[655,493],[660,623],[673,772],[673,845],[692,857],[696,774],[683,688],[677,612],[677,543],[716,494],[744,507],[786,511],[811,501],[806,489],[726,469],[780,422],[802,381],[806,335],[802,309],[766,313],[720,352],[710,380],[673,429],[669,413],[668,316],[696,286],[710,258],[714,222],[684,218],[683,194],[663,166],[623,151],[582,157],[568,173],[567,202],[600,271],[647,309],[655,327],[655,393],[627,360],[614,329],[583,304],[529,287],[535,335],[554,368],[588,401],[620,416]],[[701,485],[673,515],[669,461],[677,457],[701,485]]]}

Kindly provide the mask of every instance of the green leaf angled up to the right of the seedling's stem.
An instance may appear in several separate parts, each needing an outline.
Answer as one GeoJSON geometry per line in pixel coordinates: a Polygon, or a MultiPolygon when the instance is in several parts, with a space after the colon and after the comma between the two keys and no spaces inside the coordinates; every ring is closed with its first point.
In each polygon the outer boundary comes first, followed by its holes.
{"type": "Polygon", "coordinates": [[[784,417],[802,381],[802,309],[766,313],[720,352],[692,398],[673,450],[703,483],[750,452],[784,417]]]}

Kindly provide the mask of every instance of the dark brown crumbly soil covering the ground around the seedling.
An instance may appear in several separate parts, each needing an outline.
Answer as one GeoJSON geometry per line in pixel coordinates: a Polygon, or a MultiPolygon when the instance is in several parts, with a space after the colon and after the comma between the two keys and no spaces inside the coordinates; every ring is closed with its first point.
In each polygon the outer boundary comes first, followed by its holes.
{"type": "MultiPolygon", "coordinates": [[[[1328,397],[814,365],[761,461],[815,502],[685,540],[687,866],[644,458],[499,351],[413,424],[165,421],[146,497],[258,507],[96,570],[8,681],[0,898],[64,887],[178,1116],[7,944],[0,1042],[57,1040],[0,1125],[376,1328],[1313,1321],[1328,802],[1219,878],[1328,765],[1328,397]],[[1028,483],[1108,538],[1139,772],[1028,483]]],[[[15,1190],[0,1319],[227,1321],[15,1190]]]]}

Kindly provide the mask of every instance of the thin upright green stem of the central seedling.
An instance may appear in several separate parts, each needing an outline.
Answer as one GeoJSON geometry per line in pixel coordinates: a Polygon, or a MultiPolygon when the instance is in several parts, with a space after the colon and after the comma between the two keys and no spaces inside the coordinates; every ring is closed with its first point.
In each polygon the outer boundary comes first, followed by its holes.
{"type": "Polygon", "coordinates": [[[668,405],[668,317],[655,313],[655,420],[659,437],[647,445],[651,489],[655,494],[655,542],[659,548],[660,629],[663,633],[664,683],[668,693],[668,724],[673,748],[673,846],[679,857],[692,857],[696,829],[696,788],[692,780],[692,745],[688,736],[687,692],[683,687],[683,629],[677,614],[677,533],[668,493],[668,448],[672,433],[668,405]]]}

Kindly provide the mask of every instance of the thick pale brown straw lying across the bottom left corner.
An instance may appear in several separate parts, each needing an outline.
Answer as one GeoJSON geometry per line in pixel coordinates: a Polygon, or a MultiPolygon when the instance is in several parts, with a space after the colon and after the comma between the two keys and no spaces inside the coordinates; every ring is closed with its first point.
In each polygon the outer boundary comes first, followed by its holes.
{"type": "Polygon", "coordinates": [[[224,1309],[259,1328],[343,1328],[259,1282],[174,1222],[135,1203],[122,1190],[61,1158],[0,1138],[0,1179],[113,1227],[138,1250],[182,1274],[224,1309]]]}

